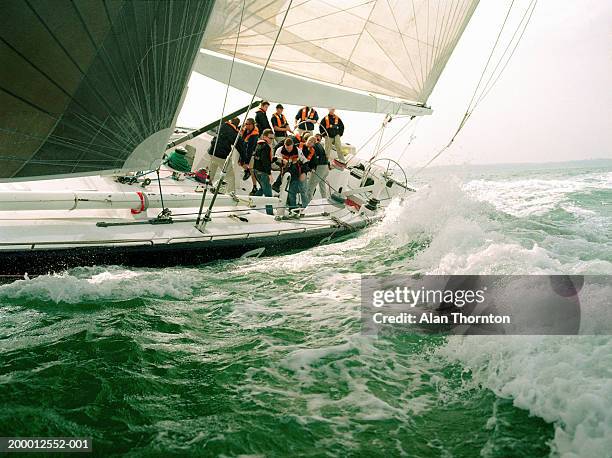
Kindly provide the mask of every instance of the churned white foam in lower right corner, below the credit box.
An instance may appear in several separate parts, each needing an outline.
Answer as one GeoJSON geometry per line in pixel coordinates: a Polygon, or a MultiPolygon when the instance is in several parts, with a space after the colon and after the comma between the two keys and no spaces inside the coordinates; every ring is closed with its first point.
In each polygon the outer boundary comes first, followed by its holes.
{"type": "Polygon", "coordinates": [[[553,452],[609,456],[612,340],[608,336],[453,337],[438,356],[515,406],[555,423],[553,452]]]}

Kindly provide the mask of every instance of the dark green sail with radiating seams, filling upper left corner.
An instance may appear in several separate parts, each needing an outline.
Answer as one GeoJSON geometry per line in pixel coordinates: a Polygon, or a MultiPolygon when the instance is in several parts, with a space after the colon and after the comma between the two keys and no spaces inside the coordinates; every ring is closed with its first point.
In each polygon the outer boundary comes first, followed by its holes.
{"type": "Polygon", "coordinates": [[[173,127],[213,6],[3,0],[0,179],[124,167],[173,127]]]}

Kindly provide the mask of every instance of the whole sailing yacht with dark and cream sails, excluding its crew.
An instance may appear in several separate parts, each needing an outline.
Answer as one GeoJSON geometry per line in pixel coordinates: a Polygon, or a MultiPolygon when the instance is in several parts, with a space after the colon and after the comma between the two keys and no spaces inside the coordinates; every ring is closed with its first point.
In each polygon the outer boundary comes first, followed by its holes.
{"type": "MultiPolygon", "coordinates": [[[[331,197],[302,213],[223,192],[163,161],[207,166],[214,127],[176,120],[192,72],[257,100],[418,117],[477,1],[27,1],[0,18],[0,275],[164,266],[334,241],[414,189],[390,159],[346,147],[331,197]],[[399,173],[399,174],[398,174],[399,173]],[[275,215],[265,206],[275,207],[275,215]]],[[[232,113],[234,116],[236,113],[232,113]]],[[[384,127],[384,125],[383,125],[384,127]]],[[[235,157],[230,155],[230,158],[235,157]]],[[[240,178],[236,177],[236,182],[240,178]]]]}

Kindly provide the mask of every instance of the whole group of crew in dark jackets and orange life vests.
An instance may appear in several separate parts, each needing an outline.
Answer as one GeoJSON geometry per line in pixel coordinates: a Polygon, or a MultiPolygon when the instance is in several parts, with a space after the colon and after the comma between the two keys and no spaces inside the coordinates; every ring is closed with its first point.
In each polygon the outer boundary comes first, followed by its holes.
{"type": "MultiPolygon", "coordinates": [[[[316,109],[304,106],[295,116],[294,134],[283,114],[283,106],[280,103],[276,105],[271,122],[266,113],[269,106],[269,102],[261,102],[254,119],[247,118],[242,128],[238,118],[221,125],[209,149],[211,180],[214,180],[217,170],[223,167],[235,144],[239,153],[236,156],[239,157],[234,156],[230,161],[226,192],[236,190],[234,163],[237,163],[244,170],[243,180],[251,177],[253,188],[250,195],[272,197],[273,191],[280,193],[283,175],[288,172],[291,176],[287,190],[289,208],[298,207],[298,194],[300,206],[305,208],[314,197],[317,187],[321,197],[326,198],[329,195],[327,177],[334,157],[332,147],[335,147],[338,161],[345,162],[341,142],[344,134],[342,120],[336,115],[335,109],[330,108],[319,123],[316,109]],[[313,135],[317,123],[320,133],[313,135]],[[280,167],[280,171],[272,184],[273,164],[277,164],[274,167],[280,167]]],[[[266,205],[266,213],[274,213],[272,205],[266,205]]]]}

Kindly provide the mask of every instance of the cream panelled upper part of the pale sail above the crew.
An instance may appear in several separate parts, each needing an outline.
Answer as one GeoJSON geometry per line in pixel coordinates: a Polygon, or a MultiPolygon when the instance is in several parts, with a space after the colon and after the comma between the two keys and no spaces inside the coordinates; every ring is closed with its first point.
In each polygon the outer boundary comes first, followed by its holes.
{"type": "MultiPolygon", "coordinates": [[[[268,68],[423,105],[477,4],[294,0],[268,68]]],[[[288,6],[246,0],[236,46],[242,2],[217,0],[202,46],[227,56],[236,49],[237,59],[261,65],[288,6]]]]}

